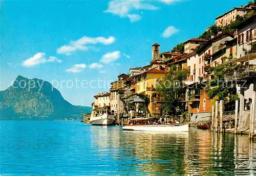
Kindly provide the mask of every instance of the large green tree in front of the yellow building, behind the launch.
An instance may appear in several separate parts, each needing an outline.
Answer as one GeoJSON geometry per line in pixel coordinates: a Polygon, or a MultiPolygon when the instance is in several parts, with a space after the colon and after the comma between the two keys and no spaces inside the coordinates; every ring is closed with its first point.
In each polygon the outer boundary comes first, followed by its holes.
{"type": "Polygon", "coordinates": [[[162,110],[169,115],[178,115],[177,108],[180,109],[181,113],[185,111],[178,99],[184,95],[184,81],[187,76],[188,70],[172,65],[167,76],[157,83],[156,91],[164,102],[162,110]]]}

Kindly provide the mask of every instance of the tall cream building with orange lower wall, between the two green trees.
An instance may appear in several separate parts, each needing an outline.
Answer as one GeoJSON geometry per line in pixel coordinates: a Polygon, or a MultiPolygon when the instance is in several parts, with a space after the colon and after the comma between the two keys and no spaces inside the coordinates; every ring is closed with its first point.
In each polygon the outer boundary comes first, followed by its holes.
{"type": "Polygon", "coordinates": [[[225,63],[233,49],[236,49],[234,35],[225,32],[198,45],[196,52],[185,56],[189,70],[186,100],[192,121],[206,120],[211,116],[212,102],[206,94],[205,84],[212,74],[209,74],[207,69],[225,63]]]}

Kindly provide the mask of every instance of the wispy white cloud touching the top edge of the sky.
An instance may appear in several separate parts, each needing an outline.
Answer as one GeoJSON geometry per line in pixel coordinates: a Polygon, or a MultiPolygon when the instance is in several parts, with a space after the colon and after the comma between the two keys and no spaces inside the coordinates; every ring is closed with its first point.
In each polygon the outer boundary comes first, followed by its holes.
{"type": "Polygon", "coordinates": [[[131,22],[135,22],[141,19],[138,14],[130,14],[130,12],[138,10],[157,10],[158,7],[151,4],[146,4],[141,0],[113,0],[109,2],[109,7],[107,10],[103,11],[105,13],[112,13],[120,17],[128,17],[131,22]]]}

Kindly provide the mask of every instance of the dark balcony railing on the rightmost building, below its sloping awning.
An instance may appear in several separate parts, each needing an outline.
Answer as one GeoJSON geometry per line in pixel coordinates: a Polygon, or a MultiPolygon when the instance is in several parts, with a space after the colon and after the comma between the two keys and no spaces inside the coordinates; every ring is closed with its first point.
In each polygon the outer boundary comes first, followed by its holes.
{"type": "Polygon", "coordinates": [[[246,77],[256,77],[256,65],[245,66],[244,69],[237,70],[225,75],[226,81],[238,80],[246,77]]]}

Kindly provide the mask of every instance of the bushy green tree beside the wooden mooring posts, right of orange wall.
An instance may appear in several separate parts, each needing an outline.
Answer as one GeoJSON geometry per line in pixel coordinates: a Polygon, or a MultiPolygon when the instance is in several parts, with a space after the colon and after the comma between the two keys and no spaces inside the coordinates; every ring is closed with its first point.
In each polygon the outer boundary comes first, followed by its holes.
{"type": "Polygon", "coordinates": [[[216,67],[210,67],[209,72],[214,74],[206,86],[206,93],[210,99],[219,98],[223,100],[225,110],[233,110],[236,100],[239,99],[237,94],[237,88],[234,84],[227,84],[225,77],[232,75],[236,69],[239,69],[240,65],[218,65],[216,67]]]}

